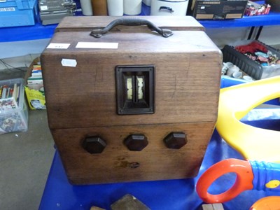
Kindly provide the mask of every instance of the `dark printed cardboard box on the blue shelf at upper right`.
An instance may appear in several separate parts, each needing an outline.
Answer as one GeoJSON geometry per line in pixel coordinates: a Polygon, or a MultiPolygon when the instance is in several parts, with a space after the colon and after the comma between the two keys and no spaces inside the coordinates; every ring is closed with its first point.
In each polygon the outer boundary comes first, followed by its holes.
{"type": "Polygon", "coordinates": [[[191,7],[197,20],[225,20],[242,18],[247,0],[195,0],[191,7]]]}

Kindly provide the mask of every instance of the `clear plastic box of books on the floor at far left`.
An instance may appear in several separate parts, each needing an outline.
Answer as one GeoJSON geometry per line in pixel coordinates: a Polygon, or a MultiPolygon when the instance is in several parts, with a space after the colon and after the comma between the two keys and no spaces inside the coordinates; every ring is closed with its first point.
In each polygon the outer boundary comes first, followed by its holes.
{"type": "Polygon", "coordinates": [[[22,78],[0,81],[0,134],[27,131],[28,109],[23,83],[22,78]]]}

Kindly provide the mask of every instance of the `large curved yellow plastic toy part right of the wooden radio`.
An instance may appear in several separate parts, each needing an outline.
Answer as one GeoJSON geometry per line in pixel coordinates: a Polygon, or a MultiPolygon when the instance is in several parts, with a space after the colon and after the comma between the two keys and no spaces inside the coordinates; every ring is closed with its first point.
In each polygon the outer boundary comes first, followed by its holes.
{"type": "Polygon", "coordinates": [[[218,133],[246,160],[280,162],[280,132],[241,123],[251,109],[280,97],[280,76],[221,89],[218,133]]]}

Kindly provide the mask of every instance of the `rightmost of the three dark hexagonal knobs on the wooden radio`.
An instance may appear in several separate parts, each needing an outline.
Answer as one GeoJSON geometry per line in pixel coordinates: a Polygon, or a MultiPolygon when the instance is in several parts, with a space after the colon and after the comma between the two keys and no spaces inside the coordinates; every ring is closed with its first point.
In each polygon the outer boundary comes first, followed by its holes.
{"type": "Polygon", "coordinates": [[[168,148],[179,149],[187,144],[186,134],[184,132],[172,132],[164,139],[168,148]]]}

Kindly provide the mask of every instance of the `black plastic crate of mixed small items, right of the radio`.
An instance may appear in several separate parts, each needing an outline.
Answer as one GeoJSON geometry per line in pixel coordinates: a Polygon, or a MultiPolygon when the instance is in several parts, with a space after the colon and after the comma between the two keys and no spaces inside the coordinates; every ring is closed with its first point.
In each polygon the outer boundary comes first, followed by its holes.
{"type": "Polygon", "coordinates": [[[223,62],[232,62],[256,80],[280,75],[280,52],[265,43],[239,41],[222,51],[223,62]]]}

